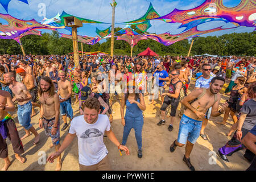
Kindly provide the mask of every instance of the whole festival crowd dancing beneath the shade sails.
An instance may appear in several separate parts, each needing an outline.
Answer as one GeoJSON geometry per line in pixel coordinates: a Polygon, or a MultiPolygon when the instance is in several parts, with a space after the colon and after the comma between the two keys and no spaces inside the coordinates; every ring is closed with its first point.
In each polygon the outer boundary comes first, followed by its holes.
{"type": "Polygon", "coordinates": [[[47,160],[52,163],[57,158],[57,171],[62,165],[61,152],[75,137],[80,170],[111,170],[103,138],[108,137],[120,153],[129,155],[126,142],[131,129],[135,131],[138,158],[142,158],[145,96],[150,105],[160,100],[161,120],[156,125],[162,126],[170,118],[171,132],[175,118],[181,118],[177,139],[170,141],[170,151],[186,145],[183,162],[192,171],[195,167],[189,156],[193,145],[199,137],[208,140],[204,132],[208,120],[221,114],[223,121],[217,123],[225,125],[231,115],[234,124],[226,135],[234,134],[217,154],[229,162],[227,156],[246,149],[244,157],[251,163],[249,169],[255,169],[255,57],[82,55],[75,63],[70,55],[1,55],[0,63],[0,158],[5,160],[2,170],[11,164],[6,138],[21,163],[25,162],[21,156],[22,140],[33,134],[34,144],[40,142],[40,135],[31,125],[35,107],[40,108],[39,127],[55,147],[56,152],[47,160]],[[195,88],[191,86],[193,78],[195,88]],[[220,92],[225,83],[229,84],[224,93],[229,99],[221,104],[220,92]],[[72,102],[79,105],[78,117],[74,117],[72,102]],[[110,129],[115,102],[120,105],[122,143],[110,129]],[[10,114],[16,108],[19,125],[26,132],[21,138],[10,114]],[[68,135],[60,141],[60,130],[68,127],[68,135]]]}

